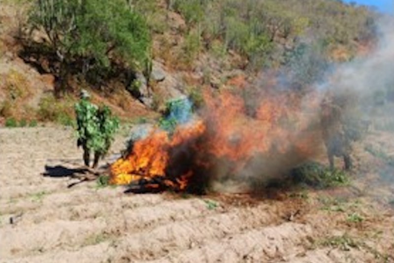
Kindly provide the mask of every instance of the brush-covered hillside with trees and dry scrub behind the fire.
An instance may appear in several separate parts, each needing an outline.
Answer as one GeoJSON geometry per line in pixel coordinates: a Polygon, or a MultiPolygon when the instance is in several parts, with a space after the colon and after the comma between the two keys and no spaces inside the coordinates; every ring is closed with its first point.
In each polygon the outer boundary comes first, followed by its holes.
{"type": "MultiPolygon", "coordinates": [[[[171,97],[167,90],[174,88],[200,104],[202,86],[220,88],[239,75],[250,81],[261,70],[283,71],[303,87],[330,63],[352,60],[376,36],[377,14],[340,0],[23,0],[1,5],[22,10],[13,26],[2,15],[1,32],[12,32],[17,48],[2,37],[1,52],[16,53],[40,74],[53,75],[58,98],[68,101],[66,93],[85,87],[127,111],[131,96],[160,109],[171,97]],[[151,77],[157,64],[172,82],[164,85],[151,77]]],[[[3,74],[1,116],[20,119],[46,111],[11,112],[27,97],[23,92],[16,98],[14,90],[31,89],[10,87],[9,74],[18,73],[3,74]]]]}

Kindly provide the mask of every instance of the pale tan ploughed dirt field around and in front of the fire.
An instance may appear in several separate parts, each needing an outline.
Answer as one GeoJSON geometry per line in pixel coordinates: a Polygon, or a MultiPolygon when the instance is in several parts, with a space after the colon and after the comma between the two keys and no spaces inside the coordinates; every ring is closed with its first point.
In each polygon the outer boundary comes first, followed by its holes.
{"type": "Polygon", "coordinates": [[[0,129],[0,152],[1,263],[394,262],[394,189],[373,176],[264,197],[127,195],[41,174],[82,164],[72,129],[0,129]]]}

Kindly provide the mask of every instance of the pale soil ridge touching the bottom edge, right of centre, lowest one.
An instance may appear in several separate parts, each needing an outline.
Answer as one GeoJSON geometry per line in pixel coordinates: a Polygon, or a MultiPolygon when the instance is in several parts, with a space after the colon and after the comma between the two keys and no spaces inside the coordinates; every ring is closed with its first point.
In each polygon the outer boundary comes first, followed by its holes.
{"type": "Polygon", "coordinates": [[[196,262],[267,262],[280,261],[304,251],[312,229],[303,224],[284,223],[278,226],[252,229],[220,240],[205,242],[201,246],[168,256],[151,263],[196,262]]]}

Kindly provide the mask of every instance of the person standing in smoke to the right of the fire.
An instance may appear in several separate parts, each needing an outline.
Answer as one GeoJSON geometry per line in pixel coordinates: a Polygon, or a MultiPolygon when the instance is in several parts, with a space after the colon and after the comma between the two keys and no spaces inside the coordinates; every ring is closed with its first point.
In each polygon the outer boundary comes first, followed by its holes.
{"type": "Polygon", "coordinates": [[[350,154],[352,152],[352,138],[345,122],[346,102],[328,95],[321,105],[321,128],[327,149],[328,161],[334,169],[334,157],[343,157],[345,169],[353,166],[350,154]]]}

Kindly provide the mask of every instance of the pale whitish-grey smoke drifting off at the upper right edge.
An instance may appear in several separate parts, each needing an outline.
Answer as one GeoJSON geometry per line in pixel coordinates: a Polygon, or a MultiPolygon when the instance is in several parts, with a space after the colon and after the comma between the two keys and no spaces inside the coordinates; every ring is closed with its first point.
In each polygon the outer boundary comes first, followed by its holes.
{"type": "MultiPolygon", "coordinates": [[[[317,86],[348,101],[347,111],[358,111],[373,129],[394,130],[394,24],[392,17],[378,24],[378,42],[366,56],[336,66],[328,81],[317,86]],[[385,127],[386,126],[386,127],[385,127]],[[392,127],[391,127],[392,126],[392,127]]],[[[356,116],[357,117],[357,116],[356,116]]]]}

